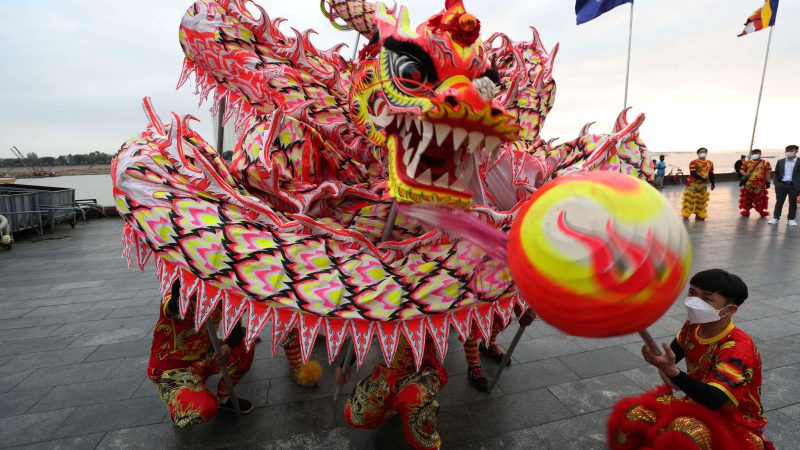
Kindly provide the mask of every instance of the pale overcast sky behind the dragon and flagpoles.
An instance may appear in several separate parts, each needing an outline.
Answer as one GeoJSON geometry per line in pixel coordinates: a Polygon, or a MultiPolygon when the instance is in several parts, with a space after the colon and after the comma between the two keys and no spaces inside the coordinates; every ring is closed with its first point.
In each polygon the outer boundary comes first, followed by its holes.
{"type": "MultiPolygon", "coordinates": [[[[398,0],[419,23],[444,1],[398,0]]],[[[332,29],[317,0],[262,0],[272,17],[314,28],[329,48],[354,32],[332,29]]],[[[162,118],[194,114],[213,141],[208,106],[193,86],[176,91],[183,54],[177,30],[191,4],[178,0],[0,0],[0,157],[8,147],[40,156],[115,152],[145,124],[141,99],[162,118]]],[[[558,94],[543,137],[574,138],[585,122],[608,132],[623,104],[629,8],[580,27],[568,0],[465,0],[483,35],[502,31],[561,43],[558,94]]],[[[750,143],[769,31],[737,38],[760,0],[640,0],[636,3],[629,104],[647,115],[641,131],[654,152],[739,150],[750,143]]],[[[772,40],[756,146],[800,143],[800,4],[781,2],[772,40]],[[791,31],[794,29],[795,31],[791,31]]],[[[343,50],[346,55],[350,51],[343,50]]]]}

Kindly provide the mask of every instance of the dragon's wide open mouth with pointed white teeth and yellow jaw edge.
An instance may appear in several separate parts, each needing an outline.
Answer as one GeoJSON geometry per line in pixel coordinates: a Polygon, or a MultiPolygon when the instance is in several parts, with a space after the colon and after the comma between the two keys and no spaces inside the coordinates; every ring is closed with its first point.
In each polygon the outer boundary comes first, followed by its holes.
{"type": "Polygon", "coordinates": [[[384,120],[392,176],[421,201],[470,199],[467,187],[475,173],[473,154],[481,148],[492,152],[501,143],[500,138],[480,131],[407,114],[384,116],[384,120]]]}

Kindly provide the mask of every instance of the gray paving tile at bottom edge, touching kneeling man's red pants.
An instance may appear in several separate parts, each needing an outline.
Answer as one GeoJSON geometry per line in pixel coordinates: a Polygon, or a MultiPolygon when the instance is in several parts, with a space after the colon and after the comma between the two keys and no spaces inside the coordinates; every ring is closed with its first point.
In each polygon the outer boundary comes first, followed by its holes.
{"type": "Polygon", "coordinates": [[[584,414],[534,427],[547,448],[563,450],[605,450],[609,410],[584,414]]]}

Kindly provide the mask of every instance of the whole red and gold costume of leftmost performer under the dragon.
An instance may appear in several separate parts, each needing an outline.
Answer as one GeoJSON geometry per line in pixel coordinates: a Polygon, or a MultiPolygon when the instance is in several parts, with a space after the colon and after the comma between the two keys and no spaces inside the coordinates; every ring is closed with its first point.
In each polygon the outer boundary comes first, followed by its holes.
{"type": "MultiPolygon", "coordinates": [[[[171,310],[173,295],[167,295],[161,305],[153,330],[147,376],[156,385],[172,421],[185,427],[211,420],[219,409],[218,398],[227,397],[229,393],[223,380],[217,385],[217,395],[205,386],[208,377],[220,370],[219,363],[212,357],[211,339],[205,332],[197,332],[194,328],[194,303],[190,304],[186,319],[181,319],[171,310]]],[[[219,311],[215,311],[209,320],[217,325],[219,318],[219,311]]],[[[229,341],[232,337],[233,333],[229,341]]],[[[234,384],[253,363],[253,350],[245,350],[244,341],[238,341],[230,342],[231,353],[227,360],[234,384]]]]}

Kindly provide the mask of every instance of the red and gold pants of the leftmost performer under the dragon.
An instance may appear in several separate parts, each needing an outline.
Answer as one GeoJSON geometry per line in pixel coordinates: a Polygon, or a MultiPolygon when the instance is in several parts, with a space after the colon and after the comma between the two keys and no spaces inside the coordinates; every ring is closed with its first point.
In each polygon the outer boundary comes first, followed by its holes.
{"type": "MultiPolygon", "coordinates": [[[[231,349],[228,357],[228,372],[236,384],[253,363],[253,350],[245,351],[244,344],[231,349]]],[[[208,377],[218,373],[219,363],[209,355],[189,367],[169,369],[163,372],[151,370],[150,379],[156,385],[158,395],[167,406],[172,421],[179,427],[196,425],[211,420],[219,409],[218,397],[227,397],[228,387],[220,379],[217,395],[211,393],[205,383],[208,377]]]]}

